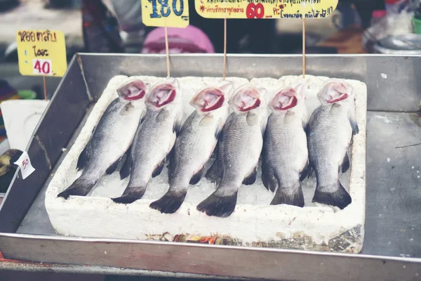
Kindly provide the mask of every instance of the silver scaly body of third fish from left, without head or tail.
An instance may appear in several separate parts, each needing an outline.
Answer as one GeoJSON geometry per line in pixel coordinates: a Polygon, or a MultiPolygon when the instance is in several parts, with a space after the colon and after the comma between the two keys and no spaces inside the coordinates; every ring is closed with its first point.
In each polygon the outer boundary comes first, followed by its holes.
{"type": "Polygon", "coordinates": [[[187,118],[180,136],[175,141],[169,175],[171,187],[187,188],[192,176],[206,164],[215,148],[218,120],[203,126],[202,119],[203,115],[194,111],[187,118]]]}

